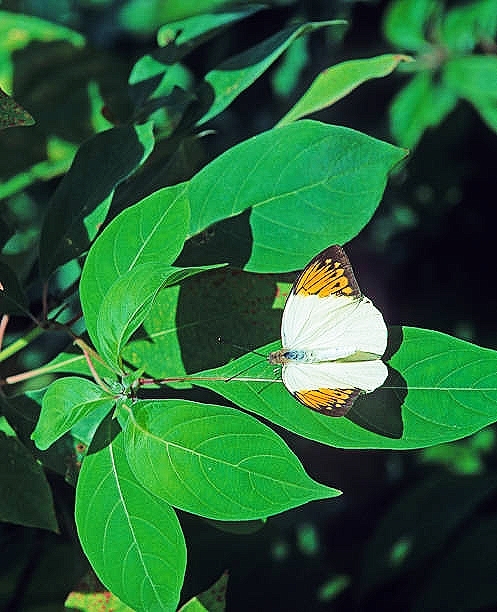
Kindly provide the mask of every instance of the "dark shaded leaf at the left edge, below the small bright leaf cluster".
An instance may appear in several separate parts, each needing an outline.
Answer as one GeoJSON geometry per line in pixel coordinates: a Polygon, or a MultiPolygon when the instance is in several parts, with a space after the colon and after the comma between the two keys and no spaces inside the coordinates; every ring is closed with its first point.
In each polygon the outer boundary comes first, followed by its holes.
{"type": "MultiPolygon", "coordinates": [[[[3,418],[3,417],[2,417],[3,418]]],[[[58,531],[50,485],[41,464],[15,437],[0,432],[0,521],[58,531]]]]}

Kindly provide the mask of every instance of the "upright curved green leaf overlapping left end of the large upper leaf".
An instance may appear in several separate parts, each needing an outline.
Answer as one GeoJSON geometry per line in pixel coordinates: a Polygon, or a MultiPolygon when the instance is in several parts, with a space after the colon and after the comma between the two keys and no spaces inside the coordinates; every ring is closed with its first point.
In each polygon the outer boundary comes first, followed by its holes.
{"type": "Polygon", "coordinates": [[[168,266],[185,241],[189,208],[185,184],[156,191],[118,215],[95,240],[81,275],[87,329],[95,336],[102,301],[121,276],[150,262],[168,266]]]}

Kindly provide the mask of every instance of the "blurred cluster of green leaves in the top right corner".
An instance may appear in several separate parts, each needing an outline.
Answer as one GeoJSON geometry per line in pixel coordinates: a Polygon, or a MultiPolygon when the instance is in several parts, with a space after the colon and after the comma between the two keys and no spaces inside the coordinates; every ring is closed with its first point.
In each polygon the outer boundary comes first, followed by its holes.
{"type": "Polygon", "coordinates": [[[390,112],[392,134],[414,147],[459,100],[472,104],[497,132],[496,0],[445,8],[437,0],[394,0],[384,20],[386,38],[414,54],[411,80],[390,112]]]}

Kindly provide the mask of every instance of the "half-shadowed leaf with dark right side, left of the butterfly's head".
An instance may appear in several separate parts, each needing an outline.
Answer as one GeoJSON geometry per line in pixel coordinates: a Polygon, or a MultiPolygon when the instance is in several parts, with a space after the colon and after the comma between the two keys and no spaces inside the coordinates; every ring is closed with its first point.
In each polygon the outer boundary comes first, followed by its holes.
{"type": "Polygon", "coordinates": [[[229,268],[167,287],[123,357],[154,378],[219,366],[233,356],[230,342],[259,346],[278,334],[274,291],[274,279],[229,268]]]}

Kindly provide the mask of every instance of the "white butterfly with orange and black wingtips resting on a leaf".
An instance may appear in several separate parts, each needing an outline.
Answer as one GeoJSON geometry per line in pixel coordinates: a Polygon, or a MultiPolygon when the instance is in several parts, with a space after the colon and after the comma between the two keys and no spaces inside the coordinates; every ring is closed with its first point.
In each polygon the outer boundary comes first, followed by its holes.
{"type": "Polygon", "coordinates": [[[295,280],[281,342],[269,363],[282,365],[283,383],[295,399],[322,414],[343,416],[359,395],[385,382],[387,327],[359,289],[342,247],[316,255],[295,280]]]}

